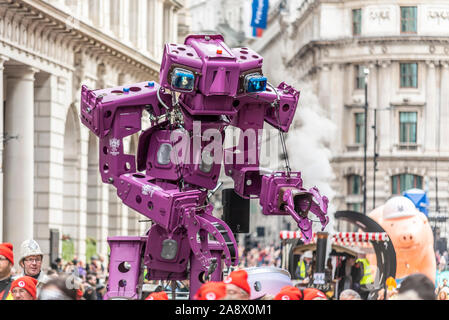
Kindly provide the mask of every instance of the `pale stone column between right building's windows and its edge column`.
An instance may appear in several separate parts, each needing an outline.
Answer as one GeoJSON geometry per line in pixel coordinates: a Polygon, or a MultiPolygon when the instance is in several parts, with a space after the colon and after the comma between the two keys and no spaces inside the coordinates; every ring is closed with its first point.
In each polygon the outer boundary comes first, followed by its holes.
{"type": "MultiPolygon", "coordinates": [[[[436,135],[437,127],[436,127],[436,116],[437,116],[437,99],[436,99],[436,70],[435,70],[435,62],[434,61],[426,61],[427,65],[427,81],[426,81],[426,106],[424,111],[424,132],[425,138],[424,141],[419,141],[425,151],[434,152],[436,150],[436,135]]],[[[421,126],[419,125],[418,118],[418,130],[421,126]]],[[[417,131],[418,131],[417,130],[417,131]]],[[[419,137],[418,131],[418,137],[419,137]]]]}

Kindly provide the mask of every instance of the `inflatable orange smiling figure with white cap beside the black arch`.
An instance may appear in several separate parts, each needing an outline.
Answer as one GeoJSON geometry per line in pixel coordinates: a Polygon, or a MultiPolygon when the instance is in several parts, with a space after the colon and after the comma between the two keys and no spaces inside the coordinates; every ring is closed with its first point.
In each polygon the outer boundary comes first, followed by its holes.
{"type": "Polygon", "coordinates": [[[436,260],[433,233],[427,217],[413,202],[393,197],[368,215],[384,228],[396,251],[396,279],[423,273],[435,282],[436,260]]]}

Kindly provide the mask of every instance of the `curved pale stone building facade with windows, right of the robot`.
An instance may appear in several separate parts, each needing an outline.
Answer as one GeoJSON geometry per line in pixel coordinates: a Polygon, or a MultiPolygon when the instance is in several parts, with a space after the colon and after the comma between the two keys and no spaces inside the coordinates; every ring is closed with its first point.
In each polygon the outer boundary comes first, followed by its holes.
{"type": "Polygon", "coordinates": [[[447,236],[449,2],[304,0],[284,4],[266,37],[252,46],[270,61],[267,72],[283,66],[284,73],[312,84],[321,107],[336,124],[329,144],[336,209],[362,212],[367,68],[366,211],[392,195],[421,188],[430,198],[429,217],[443,217],[439,227],[442,236],[447,236]],[[375,187],[374,145],[378,154],[375,187]]]}

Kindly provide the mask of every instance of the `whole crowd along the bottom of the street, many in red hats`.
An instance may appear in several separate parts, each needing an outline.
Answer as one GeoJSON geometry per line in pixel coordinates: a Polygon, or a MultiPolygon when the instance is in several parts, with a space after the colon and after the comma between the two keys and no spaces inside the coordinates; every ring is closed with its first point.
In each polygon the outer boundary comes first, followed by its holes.
{"type": "MultiPolygon", "coordinates": [[[[237,270],[232,271],[221,282],[207,282],[195,294],[197,300],[249,300],[251,288],[248,274],[243,268],[248,267],[280,267],[281,249],[272,246],[256,246],[240,248],[241,257],[237,270]]],[[[437,253],[437,266],[440,272],[448,269],[447,252],[437,253]]],[[[276,294],[264,294],[259,300],[328,300],[330,297],[316,288],[304,287],[303,280],[312,265],[311,258],[304,254],[298,263],[294,278],[300,279],[291,286],[282,288],[276,294]]],[[[24,241],[20,248],[18,265],[14,268],[12,244],[0,244],[0,300],[102,300],[106,293],[108,281],[107,265],[104,257],[91,257],[89,263],[73,259],[63,261],[58,258],[44,271],[42,268],[44,254],[34,240],[24,241]]],[[[354,264],[352,264],[354,265],[354,264]]],[[[363,264],[360,264],[363,266],[363,264]]],[[[346,266],[340,268],[344,278],[346,266]]],[[[352,271],[350,271],[352,272],[352,271]]],[[[363,278],[363,273],[360,276],[363,278]]],[[[151,281],[145,281],[150,283],[151,281]]],[[[344,282],[343,282],[344,283],[344,282]]],[[[448,300],[449,286],[444,279],[435,288],[425,275],[413,274],[405,278],[399,288],[388,287],[361,294],[359,287],[342,286],[335,297],[338,300],[448,300]],[[369,297],[368,297],[369,296],[369,297]]],[[[167,288],[157,286],[145,300],[168,300],[167,288]]],[[[334,299],[335,299],[334,297],[334,299]]],[[[252,298],[254,299],[254,297],[252,298]]]]}

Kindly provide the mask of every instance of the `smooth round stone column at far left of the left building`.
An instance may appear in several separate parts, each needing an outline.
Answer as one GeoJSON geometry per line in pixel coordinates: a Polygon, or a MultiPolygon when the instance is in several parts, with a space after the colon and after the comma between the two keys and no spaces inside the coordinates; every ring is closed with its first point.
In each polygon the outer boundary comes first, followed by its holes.
{"type": "Polygon", "coordinates": [[[28,66],[8,66],[5,133],[4,240],[14,245],[33,238],[34,209],[34,74],[28,66]]]}

